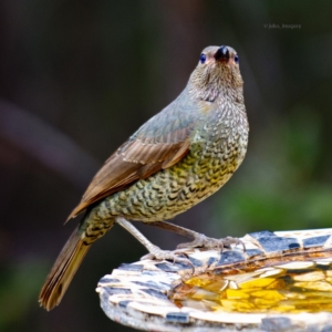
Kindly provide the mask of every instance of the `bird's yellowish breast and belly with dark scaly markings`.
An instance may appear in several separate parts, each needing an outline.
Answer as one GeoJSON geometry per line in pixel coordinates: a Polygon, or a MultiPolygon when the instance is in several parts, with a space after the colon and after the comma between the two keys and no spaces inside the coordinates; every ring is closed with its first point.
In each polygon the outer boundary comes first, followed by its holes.
{"type": "Polygon", "coordinates": [[[222,117],[201,122],[190,136],[188,154],[110,196],[110,214],[141,221],[174,218],[228,181],[245,157],[247,142],[246,123],[222,117]]]}

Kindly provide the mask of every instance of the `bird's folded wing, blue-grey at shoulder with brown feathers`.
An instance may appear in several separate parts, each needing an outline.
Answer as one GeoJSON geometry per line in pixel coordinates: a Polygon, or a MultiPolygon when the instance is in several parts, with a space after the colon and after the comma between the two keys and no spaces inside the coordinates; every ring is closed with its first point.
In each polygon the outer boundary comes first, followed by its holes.
{"type": "Polygon", "coordinates": [[[168,168],[186,156],[199,112],[195,110],[197,105],[180,96],[111,155],[68,220],[100,199],[168,168]]]}

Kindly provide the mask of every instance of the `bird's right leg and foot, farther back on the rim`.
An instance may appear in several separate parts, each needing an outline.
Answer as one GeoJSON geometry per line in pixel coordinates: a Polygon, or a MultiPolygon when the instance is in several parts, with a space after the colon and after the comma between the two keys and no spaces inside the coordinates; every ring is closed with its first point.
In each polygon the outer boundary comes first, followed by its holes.
{"type": "Polygon", "coordinates": [[[231,237],[226,237],[224,239],[209,238],[204,234],[167,221],[145,222],[145,225],[169,230],[180,236],[193,239],[193,241],[190,242],[178,245],[177,249],[204,247],[207,249],[219,248],[219,250],[222,251],[225,247],[226,248],[230,247],[230,245],[241,245],[243,247],[243,251],[246,251],[246,247],[243,242],[237,238],[231,238],[231,237]]]}

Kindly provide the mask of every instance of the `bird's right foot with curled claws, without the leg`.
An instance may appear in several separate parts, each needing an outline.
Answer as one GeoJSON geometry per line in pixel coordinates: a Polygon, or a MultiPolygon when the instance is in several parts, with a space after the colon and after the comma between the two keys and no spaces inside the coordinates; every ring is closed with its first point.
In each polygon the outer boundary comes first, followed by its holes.
{"type": "Polygon", "coordinates": [[[199,232],[195,234],[193,241],[180,243],[177,246],[177,249],[204,247],[206,249],[219,249],[222,252],[224,248],[230,248],[231,245],[240,245],[243,251],[246,251],[245,243],[237,238],[226,237],[224,239],[215,239],[199,232]]]}

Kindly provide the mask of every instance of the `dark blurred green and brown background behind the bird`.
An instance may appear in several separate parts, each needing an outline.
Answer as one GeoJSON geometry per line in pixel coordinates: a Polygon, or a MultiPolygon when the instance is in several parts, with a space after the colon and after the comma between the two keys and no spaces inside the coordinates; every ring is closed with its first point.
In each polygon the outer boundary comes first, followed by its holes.
{"type": "MultiPolygon", "coordinates": [[[[248,154],[175,221],[220,237],[331,227],[331,1],[2,0],[0,331],[131,330],[95,293],[100,278],[145,253],[118,227],[93,246],[59,308],[40,309],[39,290],[94,173],[179,94],[211,44],[239,54],[248,154]]],[[[184,240],[141,229],[162,248],[184,240]]]]}

